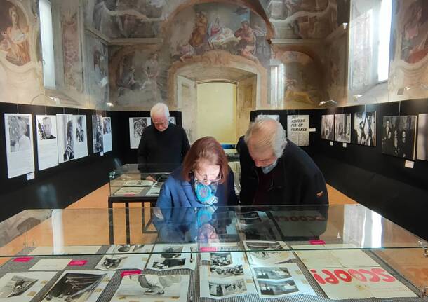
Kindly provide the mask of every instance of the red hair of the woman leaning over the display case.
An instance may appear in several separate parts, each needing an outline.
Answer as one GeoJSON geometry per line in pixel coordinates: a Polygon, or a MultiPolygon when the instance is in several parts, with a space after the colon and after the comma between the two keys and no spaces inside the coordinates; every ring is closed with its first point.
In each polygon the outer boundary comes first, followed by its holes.
{"type": "Polygon", "coordinates": [[[227,181],[229,175],[229,165],[227,156],[222,146],[214,137],[202,137],[192,144],[185,156],[182,168],[182,177],[185,181],[190,181],[190,175],[202,161],[210,165],[220,165],[220,184],[227,181]]]}

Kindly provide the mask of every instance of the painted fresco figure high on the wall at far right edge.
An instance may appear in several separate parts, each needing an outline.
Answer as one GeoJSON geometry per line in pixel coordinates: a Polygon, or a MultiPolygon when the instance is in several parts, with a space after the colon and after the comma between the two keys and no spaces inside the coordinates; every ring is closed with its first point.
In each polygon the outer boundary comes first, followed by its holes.
{"type": "Polygon", "coordinates": [[[423,0],[410,4],[410,17],[403,27],[401,59],[408,63],[419,62],[428,54],[428,20],[423,6],[423,0]]]}

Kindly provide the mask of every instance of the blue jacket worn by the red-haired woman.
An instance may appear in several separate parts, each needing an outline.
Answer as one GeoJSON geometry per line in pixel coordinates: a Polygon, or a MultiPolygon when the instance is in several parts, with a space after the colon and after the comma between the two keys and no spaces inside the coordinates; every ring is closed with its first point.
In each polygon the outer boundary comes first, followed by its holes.
{"type": "MultiPolygon", "coordinates": [[[[161,188],[156,207],[202,207],[194,193],[193,181],[185,181],[182,175],[182,167],[174,170],[166,179],[161,188]]],[[[234,190],[234,174],[229,168],[227,182],[219,184],[215,196],[218,198],[216,206],[238,205],[234,190]]]]}

